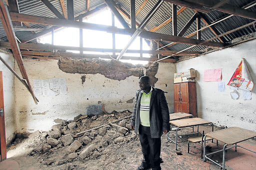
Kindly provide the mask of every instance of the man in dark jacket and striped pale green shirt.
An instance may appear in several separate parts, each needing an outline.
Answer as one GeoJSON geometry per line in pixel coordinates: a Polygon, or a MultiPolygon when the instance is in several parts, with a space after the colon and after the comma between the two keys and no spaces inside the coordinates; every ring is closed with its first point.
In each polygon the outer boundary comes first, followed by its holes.
{"type": "Polygon", "coordinates": [[[164,92],[150,86],[148,76],[139,78],[130,127],[139,133],[143,160],[137,170],[161,170],[161,135],[170,131],[169,111],[164,92]]]}

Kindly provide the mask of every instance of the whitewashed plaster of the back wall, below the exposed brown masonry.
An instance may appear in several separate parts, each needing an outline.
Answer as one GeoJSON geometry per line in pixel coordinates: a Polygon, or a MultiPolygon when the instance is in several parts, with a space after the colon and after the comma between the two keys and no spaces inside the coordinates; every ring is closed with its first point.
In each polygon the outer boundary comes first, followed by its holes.
{"type": "MultiPolygon", "coordinates": [[[[39,102],[35,105],[29,92],[15,79],[18,132],[47,131],[55,124],[53,122],[55,119],[72,120],[79,114],[85,115],[85,108],[97,104],[98,101],[105,104],[107,112],[133,109],[135,99],[131,104],[126,101],[135,97],[135,92],[139,89],[138,77],[130,76],[118,81],[105,78],[101,74],[65,73],[58,68],[57,60],[24,58],[23,62],[31,84],[34,79],[63,77],[66,79],[68,90],[67,95],[48,97],[38,95],[36,98],[39,102]],[[83,75],[86,78],[82,84],[81,76],[83,75]]],[[[170,104],[169,109],[173,110],[171,80],[175,65],[160,63],[159,67],[156,87],[168,92],[165,96],[170,104]],[[166,75],[166,72],[170,71],[172,71],[171,76],[166,75]]]]}

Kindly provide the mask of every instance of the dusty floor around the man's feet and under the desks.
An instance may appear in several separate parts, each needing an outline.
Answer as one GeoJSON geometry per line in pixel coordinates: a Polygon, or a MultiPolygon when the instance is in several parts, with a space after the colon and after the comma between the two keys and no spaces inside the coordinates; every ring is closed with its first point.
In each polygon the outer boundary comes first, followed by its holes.
{"type": "MultiPolygon", "coordinates": [[[[210,132],[210,126],[200,126],[199,131],[201,132],[210,132]]],[[[217,130],[217,129],[215,129],[217,130]]],[[[175,131],[171,131],[171,134],[174,135],[175,131]]],[[[178,135],[182,135],[184,133],[191,132],[191,128],[184,128],[178,131],[178,135]]],[[[177,155],[175,153],[175,145],[174,143],[167,142],[167,136],[162,136],[162,151],[161,158],[164,163],[161,164],[162,170],[220,170],[220,168],[213,163],[207,161],[203,162],[200,158],[200,144],[190,144],[190,153],[187,153],[187,138],[188,136],[182,136],[179,138],[178,151],[182,153],[182,155],[177,155]]],[[[134,147],[134,150],[139,150],[139,140],[132,141],[129,145],[134,147]],[[137,148],[135,148],[137,146],[137,148]]],[[[219,150],[222,148],[223,144],[219,143],[216,146],[215,141],[211,143],[211,141],[207,141],[206,145],[211,147],[211,151],[219,150]]],[[[248,140],[239,144],[245,148],[256,151],[256,141],[248,140]]],[[[126,147],[126,146],[123,146],[126,147]]],[[[125,152],[124,148],[120,148],[121,151],[125,152]]],[[[124,153],[125,155],[125,153],[124,153]]],[[[108,167],[107,170],[135,170],[136,167],[140,164],[140,160],[142,159],[142,154],[136,152],[127,153],[127,159],[125,162],[113,162],[108,167]],[[130,155],[131,154],[131,155],[130,155]],[[134,155],[133,155],[134,154],[134,155]],[[134,158],[136,157],[136,158],[134,158]]],[[[214,161],[218,163],[222,162],[222,155],[216,154],[211,157],[214,161]]],[[[230,149],[226,153],[226,170],[256,170],[256,154],[248,152],[244,149],[237,148],[237,152],[234,149],[230,149]]],[[[85,170],[91,170],[90,165],[97,165],[100,160],[91,160],[87,164],[84,165],[85,170]]],[[[12,157],[0,163],[0,170],[53,170],[53,167],[44,166],[39,167],[38,160],[34,157],[12,157]]],[[[54,170],[57,168],[55,167],[54,170]]],[[[96,168],[100,170],[102,168],[96,168]]],[[[95,169],[95,170],[96,170],[95,169]]],[[[75,169],[76,170],[76,169],[75,169]]],[[[78,170],[78,169],[77,169],[78,170]]],[[[103,170],[103,169],[102,169],[103,170]]],[[[105,168],[104,168],[105,170],[105,168]]]]}

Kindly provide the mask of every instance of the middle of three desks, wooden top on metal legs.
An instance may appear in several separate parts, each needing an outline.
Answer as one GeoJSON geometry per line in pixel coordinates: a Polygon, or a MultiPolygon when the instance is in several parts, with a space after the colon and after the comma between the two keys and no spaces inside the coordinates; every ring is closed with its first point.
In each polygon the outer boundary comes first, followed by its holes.
{"type": "Polygon", "coordinates": [[[198,132],[199,125],[211,124],[212,132],[213,132],[213,124],[212,124],[212,122],[206,121],[206,120],[201,119],[201,118],[180,119],[180,120],[170,121],[170,123],[177,127],[176,132],[175,132],[175,142],[174,142],[175,143],[176,151],[177,151],[177,131],[178,131],[179,128],[186,128],[186,127],[197,126],[197,132],[186,134],[186,135],[191,135],[191,134],[198,134],[198,133],[200,133],[200,132],[198,132]]]}

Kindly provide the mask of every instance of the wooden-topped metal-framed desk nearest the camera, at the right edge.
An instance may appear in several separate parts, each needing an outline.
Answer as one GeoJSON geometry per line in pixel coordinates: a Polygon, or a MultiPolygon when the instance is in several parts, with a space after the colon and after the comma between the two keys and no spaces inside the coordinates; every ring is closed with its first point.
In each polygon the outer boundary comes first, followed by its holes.
{"type": "Polygon", "coordinates": [[[251,150],[249,150],[247,148],[244,148],[242,146],[238,146],[237,145],[237,143],[246,141],[246,140],[254,138],[254,137],[256,137],[256,132],[249,131],[249,130],[242,129],[242,128],[238,128],[238,127],[232,127],[232,128],[227,128],[227,129],[222,129],[222,130],[219,130],[219,131],[207,133],[207,134],[205,134],[204,139],[203,139],[203,161],[205,162],[206,160],[209,160],[209,161],[213,162],[214,164],[218,165],[219,167],[221,167],[222,170],[225,170],[225,152],[226,152],[226,150],[229,150],[231,148],[235,148],[235,152],[236,152],[236,147],[240,147],[240,148],[243,148],[245,150],[248,150],[248,151],[253,152],[253,153],[256,154],[255,151],[251,151],[251,150]],[[221,133],[226,136],[226,139],[223,138],[223,137],[221,138],[220,136],[219,137],[217,136],[218,134],[221,134],[221,133]],[[249,134],[249,135],[246,135],[246,133],[249,134]],[[223,142],[225,144],[223,146],[223,149],[215,151],[215,152],[212,152],[212,153],[209,153],[209,154],[205,154],[205,138],[206,138],[206,136],[208,136],[210,138],[213,138],[213,139],[215,139],[217,141],[223,142]],[[235,139],[232,139],[232,140],[228,141],[227,138],[229,138],[229,137],[233,137],[235,139]],[[230,147],[227,148],[228,145],[230,147]],[[216,154],[218,152],[222,152],[222,154],[223,154],[222,166],[207,157],[209,155],[216,154]]]}

